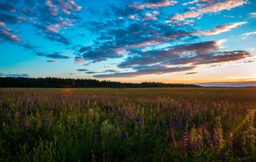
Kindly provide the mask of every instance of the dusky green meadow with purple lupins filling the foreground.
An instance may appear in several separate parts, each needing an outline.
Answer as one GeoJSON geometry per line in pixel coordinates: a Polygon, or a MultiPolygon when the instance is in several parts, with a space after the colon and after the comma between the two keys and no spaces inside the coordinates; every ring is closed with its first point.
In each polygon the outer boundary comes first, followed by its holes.
{"type": "Polygon", "coordinates": [[[0,109],[0,161],[256,161],[256,88],[1,88],[0,109]]]}

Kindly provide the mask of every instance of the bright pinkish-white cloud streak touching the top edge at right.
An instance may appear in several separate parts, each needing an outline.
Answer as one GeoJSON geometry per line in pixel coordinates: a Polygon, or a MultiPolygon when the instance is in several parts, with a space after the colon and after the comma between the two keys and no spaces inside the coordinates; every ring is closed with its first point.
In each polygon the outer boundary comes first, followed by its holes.
{"type": "Polygon", "coordinates": [[[184,20],[187,18],[197,18],[203,14],[219,13],[222,10],[231,10],[247,3],[248,2],[246,0],[227,0],[225,2],[205,1],[205,3],[198,4],[195,10],[187,11],[183,14],[175,14],[172,16],[172,19],[184,20]]]}

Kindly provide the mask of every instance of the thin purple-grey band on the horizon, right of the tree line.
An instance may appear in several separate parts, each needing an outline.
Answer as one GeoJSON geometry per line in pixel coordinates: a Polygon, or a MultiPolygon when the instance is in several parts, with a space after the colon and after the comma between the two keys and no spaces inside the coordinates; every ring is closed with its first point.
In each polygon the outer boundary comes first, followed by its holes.
{"type": "Polygon", "coordinates": [[[200,86],[211,86],[211,87],[246,87],[256,86],[256,82],[209,82],[209,83],[198,83],[200,86]]]}

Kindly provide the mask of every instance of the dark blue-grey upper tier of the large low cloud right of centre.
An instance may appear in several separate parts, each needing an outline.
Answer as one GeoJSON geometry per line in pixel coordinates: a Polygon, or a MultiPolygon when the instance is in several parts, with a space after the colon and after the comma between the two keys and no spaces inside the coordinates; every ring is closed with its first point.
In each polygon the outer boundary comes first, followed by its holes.
{"type": "MultiPolygon", "coordinates": [[[[195,56],[202,57],[205,53],[214,52],[221,47],[220,40],[205,41],[193,44],[182,44],[176,47],[164,49],[152,49],[150,51],[138,51],[134,57],[128,57],[126,61],[119,64],[119,68],[131,68],[134,65],[147,65],[147,64],[188,64],[189,61],[193,63],[195,56]]],[[[212,53],[210,53],[212,54],[212,53]]],[[[208,56],[208,55],[207,55],[208,56]]],[[[207,59],[205,57],[205,59],[207,59]]],[[[199,60],[197,60],[199,61],[199,60]]]]}

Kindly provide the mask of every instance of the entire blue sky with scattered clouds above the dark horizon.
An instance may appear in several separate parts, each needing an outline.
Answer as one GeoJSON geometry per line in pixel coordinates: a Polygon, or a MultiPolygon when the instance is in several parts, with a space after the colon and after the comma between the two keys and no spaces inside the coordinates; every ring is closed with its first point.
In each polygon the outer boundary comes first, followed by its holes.
{"type": "Polygon", "coordinates": [[[254,0],[1,0],[0,76],[256,86],[254,0]]]}

